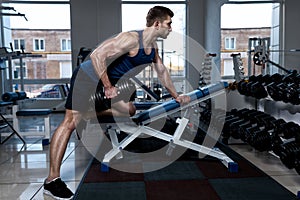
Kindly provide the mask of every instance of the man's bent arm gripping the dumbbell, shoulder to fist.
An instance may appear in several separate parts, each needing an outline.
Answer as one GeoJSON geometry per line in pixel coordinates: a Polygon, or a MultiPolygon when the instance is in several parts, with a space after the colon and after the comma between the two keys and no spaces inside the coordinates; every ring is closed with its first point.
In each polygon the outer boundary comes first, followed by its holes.
{"type": "Polygon", "coordinates": [[[101,79],[105,95],[108,98],[113,98],[117,95],[116,88],[114,88],[106,73],[108,61],[113,61],[125,53],[128,53],[136,46],[136,38],[129,32],[120,33],[114,38],[104,41],[91,53],[91,61],[94,69],[101,79]]]}

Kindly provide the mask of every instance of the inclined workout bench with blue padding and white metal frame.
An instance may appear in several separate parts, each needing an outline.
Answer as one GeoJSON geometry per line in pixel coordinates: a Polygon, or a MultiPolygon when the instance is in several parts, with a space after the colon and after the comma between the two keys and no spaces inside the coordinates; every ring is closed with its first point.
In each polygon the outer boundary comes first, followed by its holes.
{"type": "Polygon", "coordinates": [[[222,91],[224,87],[228,87],[227,82],[220,82],[209,85],[205,88],[194,90],[186,94],[191,99],[188,105],[180,105],[175,100],[170,100],[160,105],[156,105],[155,107],[152,107],[148,110],[139,112],[131,118],[126,118],[126,120],[113,120],[117,123],[105,121],[105,119],[102,118],[102,120],[104,121],[99,121],[99,123],[104,123],[108,127],[107,133],[110,136],[112,149],[104,155],[104,158],[101,162],[101,171],[108,171],[111,159],[113,159],[114,157],[116,157],[117,159],[123,158],[122,150],[136,138],[145,134],[169,142],[169,148],[166,152],[167,155],[171,154],[172,148],[175,148],[175,146],[178,145],[186,149],[192,149],[196,152],[218,158],[230,172],[236,172],[238,169],[237,163],[231,160],[220,150],[215,148],[208,148],[206,146],[199,145],[182,138],[183,132],[189,123],[189,107],[194,106],[204,100],[210,99],[213,96],[224,93],[224,91],[222,91]],[[178,126],[174,135],[170,135],[147,126],[150,122],[169,116],[184,109],[186,109],[184,117],[178,118],[176,121],[178,123],[178,126]],[[117,134],[120,131],[128,133],[128,136],[119,142],[117,134]]]}

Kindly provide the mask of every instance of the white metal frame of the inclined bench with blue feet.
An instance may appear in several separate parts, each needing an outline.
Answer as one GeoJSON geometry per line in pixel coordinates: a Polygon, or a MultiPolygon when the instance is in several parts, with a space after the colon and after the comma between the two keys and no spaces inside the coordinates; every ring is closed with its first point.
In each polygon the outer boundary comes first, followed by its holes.
{"type": "Polygon", "coordinates": [[[135,140],[137,137],[139,137],[142,134],[149,135],[152,137],[156,137],[158,139],[164,140],[169,142],[169,148],[166,152],[167,155],[171,155],[173,148],[175,148],[176,145],[184,147],[186,149],[192,149],[199,153],[199,157],[201,154],[209,155],[215,158],[218,158],[227,168],[229,172],[237,172],[238,171],[238,164],[234,162],[230,157],[228,157],[225,153],[220,151],[217,148],[209,148],[185,139],[182,139],[182,134],[188,125],[189,122],[189,107],[196,105],[204,100],[210,99],[213,96],[217,96],[219,94],[224,93],[223,91],[217,91],[213,94],[210,94],[208,96],[204,96],[200,99],[197,99],[193,102],[190,102],[189,105],[184,105],[180,108],[173,109],[168,111],[168,115],[175,113],[179,110],[186,109],[186,113],[183,117],[178,118],[176,123],[178,123],[178,126],[175,130],[174,135],[170,135],[164,132],[161,132],[159,130],[153,129],[151,127],[148,127],[147,124],[151,121],[155,121],[157,119],[160,119],[161,117],[165,116],[166,113],[162,113],[160,115],[157,115],[155,117],[152,117],[146,121],[143,121],[142,123],[138,124],[130,124],[130,123],[118,123],[109,124],[109,128],[107,130],[112,144],[112,149],[107,152],[102,160],[101,163],[101,171],[107,172],[109,171],[109,162],[116,157],[116,159],[123,158],[122,150],[125,149],[126,146],[128,146],[133,140],[135,140]],[[124,138],[122,141],[118,141],[117,134],[120,132],[126,132],[128,133],[128,136],[124,138]]]}

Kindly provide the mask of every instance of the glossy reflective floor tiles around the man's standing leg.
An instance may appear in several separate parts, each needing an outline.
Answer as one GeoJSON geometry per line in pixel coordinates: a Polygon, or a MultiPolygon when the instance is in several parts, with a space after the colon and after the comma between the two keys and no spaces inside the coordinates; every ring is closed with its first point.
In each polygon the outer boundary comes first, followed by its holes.
{"type": "MultiPolygon", "coordinates": [[[[52,132],[62,119],[63,114],[52,114],[52,132]]],[[[33,120],[36,123],[37,119],[33,120]]],[[[51,199],[42,192],[49,169],[49,146],[42,146],[42,137],[26,137],[25,141],[23,146],[18,138],[12,138],[0,145],[0,199],[51,199]]],[[[91,158],[73,134],[61,167],[62,179],[72,191],[78,187],[91,158]]]]}

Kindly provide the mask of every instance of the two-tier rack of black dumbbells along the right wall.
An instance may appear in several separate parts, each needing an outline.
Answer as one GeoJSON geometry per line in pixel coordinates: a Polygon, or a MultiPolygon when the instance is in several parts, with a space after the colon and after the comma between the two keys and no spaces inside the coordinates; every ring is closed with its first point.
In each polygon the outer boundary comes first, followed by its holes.
{"type": "MultiPolygon", "coordinates": [[[[286,91],[286,92],[283,92],[283,89],[282,87],[279,87],[279,85],[282,85],[283,83],[287,83],[287,84],[290,84],[292,82],[295,82],[294,85],[298,85],[298,80],[300,76],[295,73],[295,72],[292,72],[292,73],[288,73],[287,75],[280,75],[280,74],[274,74],[272,76],[270,75],[259,75],[259,76],[250,76],[248,78],[248,80],[241,80],[238,84],[237,84],[237,89],[238,89],[238,92],[241,94],[241,95],[245,95],[247,97],[253,97],[255,98],[255,109],[256,109],[256,112],[255,114],[258,114],[258,111],[260,108],[264,107],[264,105],[266,104],[270,104],[270,102],[278,102],[276,105],[277,106],[273,106],[273,108],[278,108],[280,107],[281,109],[282,108],[290,108],[290,113],[297,113],[299,110],[300,110],[300,93],[299,91],[300,90],[296,90],[296,91],[286,91]],[[278,85],[278,86],[277,86],[278,85]],[[292,93],[293,92],[293,93],[292,93]],[[297,94],[297,95],[295,95],[297,94]],[[298,98],[296,98],[298,97],[298,98]],[[292,105],[293,104],[296,104],[296,105],[292,105]],[[280,106],[278,106],[280,105],[280,106]]],[[[275,105],[275,104],[273,104],[275,105]]],[[[264,109],[263,109],[264,110],[264,109]]],[[[266,113],[264,113],[266,114],[266,113]]],[[[254,116],[253,116],[254,117],[254,116]]],[[[271,117],[271,116],[270,116],[271,117]]],[[[273,120],[273,119],[272,119],[273,120]]],[[[282,119],[283,120],[283,119],[282,119]]],[[[230,132],[229,130],[227,129],[230,129],[228,128],[228,123],[232,123],[230,124],[230,126],[235,126],[235,129],[238,128],[238,126],[242,126],[243,124],[246,124],[245,122],[246,120],[244,119],[244,117],[242,116],[235,116],[235,118],[233,119],[230,119],[229,117],[227,118],[227,123],[225,123],[224,125],[224,129],[225,129],[225,138],[228,137],[228,135],[233,135],[233,138],[235,139],[240,139],[240,137],[238,137],[238,133],[228,133],[230,132]],[[244,120],[244,121],[243,121],[244,120]],[[240,123],[240,124],[238,124],[240,123]]],[[[248,120],[248,121],[251,121],[251,120],[248,120]]],[[[249,122],[247,122],[249,124],[249,122]]],[[[254,122],[255,123],[255,122],[254,122]]],[[[269,126],[271,122],[270,121],[265,121],[263,126],[269,126]]],[[[293,122],[287,122],[287,124],[291,125],[292,127],[294,127],[294,124],[293,122]]],[[[282,125],[285,125],[285,124],[282,124],[282,125]]],[[[261,124],[262,126],[262,124],[261,124]]],[[[249,127],[246,127],[245,129],[248,130],[249,127]]],[[[274,128],[274,127],[273,127],[274,128]]],[[[239,131],[243,131],[245,130],[243,128],[240,128],[239,131]]],[[[277,129],[279,129],[277,127],[277,129]]],[[[279,132],[285,132],[286,130],[289,130],[290,127],[289,126],[286,126],[286,129],[282,129],[280,130],[279,132]]],[[[238,130],[235,130],[236,132],[238,130]]],[[[256,131],[256,130],[252,130],[253,131],[256,131]]],[[[267,130],[268,132],[269,130],[267,130]]],[[[278,131],[278,130],[277,130],[278,131]]],[[[234,131],[233,131],[234,132],[234,131]]],[[[296,133],[300,133],[300,126],[298,125],[297,126],[297,130],[293,130],[291,132],[294,132],[294,139],[296,140],[295,144],[293,143],[290,143],[290,144],[287,144],[286,147],[282,147],[282,148],[287,148],[285,149],[286,151],[289,151],[288,153],[286,153],[288,156],[292,157],[293,154],[295,154],[295,161],[294,163],[297,162],[297,160],[299,160],[300,162],[300,158],[297,157],[298,155],[298,151],[300,152],[300,135],[298,136],[296,133]],[[292,145],[292,146],[291,146],[292,145]]],[[[286,134],[281,134],[280,135],[280,142],[284,143],[284,141],[286,139],[291,139],[291,137],[289,136],[286,136],[286,134]],[[283,135],[283,136],[282,136],[283,135]]],[[[225,143],[228,143],[228,141],[226,141],[228,138],[226,138],[224,141],[225,143]]],[[[245,138],[242,138],[242,140],[246,143],[249,143],[249,141],[247,141],[247,139],[245,138]]],[[[269,142],[268,140],[265,141],[266,143],[269,142]]],[[[269,145],[272,145],[272,144],[269,144],[269,145]]],[[[280,147],[281,148],[281,147],[280,147]]],[[[267,151],[268,149],[259,149],[258,148],[255,148],[255,149],[258,149],[260,151],[267,151]]],[[[273,150],[273,149],[272,149],[273,150]]],[[[275,153],[276,155],[280,154],[280,152],[277,151],[277,153],[275,153]]],[[[283,163],[285,164],[285,166],[287,166],[288,168],[295,168],[296,171],[298,172],[298,174],[300,174],[300,166],[298,166],[298,164],[289,164],[288,160],[286,160],[285,158],[282,158],[283,155],[279,156],[281,160],[283,160],[283,163]],[[295,166],[293,166],[295,165],[295,166]]],[[[291,158],[292,159],[292,158],[291,158]]]]}

